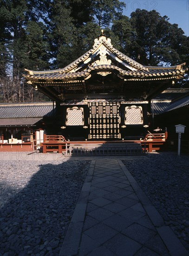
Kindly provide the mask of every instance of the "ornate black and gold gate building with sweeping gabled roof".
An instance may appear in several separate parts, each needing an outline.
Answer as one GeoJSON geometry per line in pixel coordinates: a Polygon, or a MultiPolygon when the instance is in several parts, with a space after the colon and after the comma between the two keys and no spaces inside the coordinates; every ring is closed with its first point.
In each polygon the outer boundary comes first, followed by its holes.
{"type": "Polygon", "coordinates": [[[185,63],[149,67],[117,51],[102,34],[65,68],[26,70],[31,84],[56,102],[49,134],[71,140],[144,138],[152,130],[151,100],[182,78],[185,63]]]}

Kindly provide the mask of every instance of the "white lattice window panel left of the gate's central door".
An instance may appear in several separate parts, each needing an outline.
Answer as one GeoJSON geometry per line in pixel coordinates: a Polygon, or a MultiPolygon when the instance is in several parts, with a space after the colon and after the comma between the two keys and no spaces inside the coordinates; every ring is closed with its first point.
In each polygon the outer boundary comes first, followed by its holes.
{"type": "Polygon", "coordinates": [[[83,108],[67,108],[66,111],[66,125],[84,125],[84,111],[83,108]]]}

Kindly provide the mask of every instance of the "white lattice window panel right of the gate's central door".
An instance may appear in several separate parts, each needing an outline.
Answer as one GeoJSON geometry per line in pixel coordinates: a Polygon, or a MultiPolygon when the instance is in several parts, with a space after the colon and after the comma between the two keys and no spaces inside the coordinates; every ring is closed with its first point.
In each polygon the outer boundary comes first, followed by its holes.
{"type": "Polygon", "coordinates": [[[143,124],[143,108],[140,106],[126,107],[125,124],[143,124]]]}

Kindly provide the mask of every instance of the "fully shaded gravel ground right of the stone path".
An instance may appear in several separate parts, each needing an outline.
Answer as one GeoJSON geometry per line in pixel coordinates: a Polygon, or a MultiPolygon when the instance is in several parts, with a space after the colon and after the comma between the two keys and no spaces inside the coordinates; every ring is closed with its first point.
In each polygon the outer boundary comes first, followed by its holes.
{"type": "Polygon", "coordinates": [[[189,155],[148,153],[143,159],[123,162],[189,250],[189,155]]]}

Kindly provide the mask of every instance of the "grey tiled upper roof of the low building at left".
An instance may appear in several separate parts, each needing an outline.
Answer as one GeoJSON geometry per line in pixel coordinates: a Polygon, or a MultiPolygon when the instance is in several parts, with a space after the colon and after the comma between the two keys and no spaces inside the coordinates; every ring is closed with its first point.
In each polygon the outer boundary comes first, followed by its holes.
{"type": "Polygon", "coordinates": [[[0,118],[43,118],[52,115],[52,102],[0,104],[0,118]]]}

